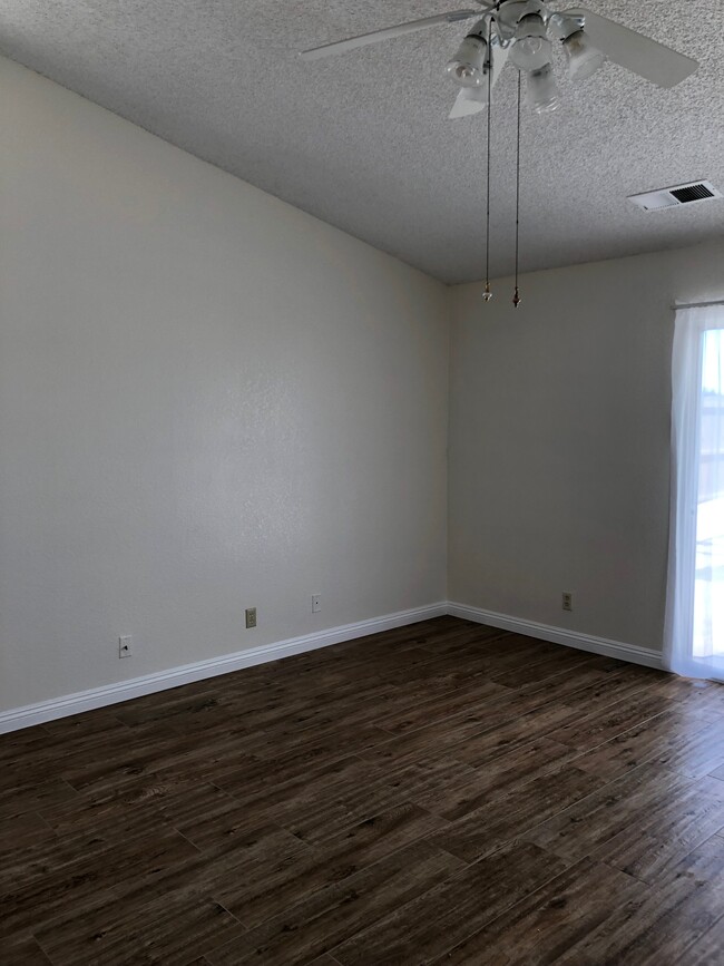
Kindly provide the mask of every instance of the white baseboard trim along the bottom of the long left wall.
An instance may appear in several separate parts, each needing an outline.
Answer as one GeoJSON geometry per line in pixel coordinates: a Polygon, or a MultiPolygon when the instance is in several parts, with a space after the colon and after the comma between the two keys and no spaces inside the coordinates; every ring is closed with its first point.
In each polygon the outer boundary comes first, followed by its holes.
{"type": "Polygon", "coordinates": [[[261,647],[250,647],[247,651],[212,657],[208,661],[196,661],[193,664],[184,664],[168,671],[158,671],[155,674],[145,674],[143,677],[134,677],[130,681],[119,681],[116,684],[92,687],[76,694],[66,694],[62,697],[41,701],[38,704],[27,704],[25,708],[11,708],[9,711],[0,712],[0,734],[18,731],[21,728],[30,728],[33,724],[42,724],[45,721],[55,721],[58,718],[79,714],[81,711],[92,711],[95,708],[118,704],[131,697],[141,697],[144,694],[179,687],[182,684],[190,684],[206,677],[216,677],[218,674],[241,671],[243,667],[253,667],[255,664],[265,664],[267,661],[291,657],[292,654],[302,654],[305,651],[315,651],[317,647],[327,647],[330,644],[341,644],[343,641],[365,637],[368,634],[378,634],[381,631],[391,631],[394,627],[403,627],[419,621],[429,621],[431,617],[440,617],[447,613],[448,605],[441,601],[427,607],[399,611],[397,614],[358,621],[354,624],[331,627],[329,631],[320,631],[316,634],[305,634],[302,637],[291,637],[288,641],[263,644],[261,647]]]}

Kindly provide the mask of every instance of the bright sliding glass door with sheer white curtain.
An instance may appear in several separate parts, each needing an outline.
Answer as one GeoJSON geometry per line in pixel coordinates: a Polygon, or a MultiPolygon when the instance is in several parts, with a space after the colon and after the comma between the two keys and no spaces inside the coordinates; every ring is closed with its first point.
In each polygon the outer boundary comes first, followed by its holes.
{"type": "Polygon", "coordinates": [[[665,656],[724,680],[724,304],[676,315],[665,656]]]}

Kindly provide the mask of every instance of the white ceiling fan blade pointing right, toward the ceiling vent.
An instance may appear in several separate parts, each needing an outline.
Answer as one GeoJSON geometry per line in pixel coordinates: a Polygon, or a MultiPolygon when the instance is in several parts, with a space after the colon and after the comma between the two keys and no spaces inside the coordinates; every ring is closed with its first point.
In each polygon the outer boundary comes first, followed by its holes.
{"type": "Polygon", "coordinates": [[[674,87],[698,67],[696,60],[692,60],[691,57],[657,43],[643,33],[622,27],[614,20],[599,17],[585,7],[566,10],[562,16],[583,17],[586,21],[586,33],[594,47],[597,47],[609,60],[638,74],[639,77],[645,77],[658,87],[674,87]]]}

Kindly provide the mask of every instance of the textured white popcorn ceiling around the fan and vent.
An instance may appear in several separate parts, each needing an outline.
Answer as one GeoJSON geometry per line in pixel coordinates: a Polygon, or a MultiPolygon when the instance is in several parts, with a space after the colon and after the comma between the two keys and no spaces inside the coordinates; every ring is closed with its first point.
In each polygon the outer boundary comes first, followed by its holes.
{"type": "MultiPolygon", "coordinates": [[[[447,282],[483,274],[485,115],[447,119],[464,25],[301,62],[295,50],[466,2],[0,0],[0,52],[447,282]]],[[[561,9],[565,3],[551,4],[561,9]]],[[[673,90],[607,64],[524,115],[524,270],[721,235],[724,202],[645,214],[626,195],[724,189],[723,0],[590,0],[701,61],[673,90]]],[[[495,105],[491,270],[512,266],[516,72],[495,105]]]]}

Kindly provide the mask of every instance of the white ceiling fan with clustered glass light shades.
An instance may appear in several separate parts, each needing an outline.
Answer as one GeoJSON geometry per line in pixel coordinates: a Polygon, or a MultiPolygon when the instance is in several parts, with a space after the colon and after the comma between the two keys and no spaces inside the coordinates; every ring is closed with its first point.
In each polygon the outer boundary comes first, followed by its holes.
{"type": "Polygon", "coordinates": [[[583,7],[558,12],[541,0],[474,2],[483,8],[482,17],[476,9],[452,10],[303,50],[300,57],[317,60],[438,23],[479,18],[446,68],[461,88],[451,118],[487,107],[490,89],[508,59],[527,75],[527,100],[532,110],[537,114],[555,110],[560,100],[552,70],[554,40],[562,43],[567,72],[574,81],[590,77],[606,58],[658,87],[674,87],[698,67],[691,57],[583,7]]]}

